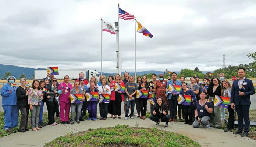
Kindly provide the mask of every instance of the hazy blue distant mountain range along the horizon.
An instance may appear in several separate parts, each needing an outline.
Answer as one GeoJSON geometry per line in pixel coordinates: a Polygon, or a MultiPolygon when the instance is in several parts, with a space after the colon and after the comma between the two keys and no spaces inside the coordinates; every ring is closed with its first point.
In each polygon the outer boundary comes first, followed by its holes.
{"type": "MultiPolygon", "coordinates": [[[[46,69],[45,68],[35,69],[35,68],[29,68],[29,67],[19,67],[19,66],[14,66],[14,65],[0,64],[0,79],[3,78],[3,75],[4,75],[5,72],[11,72],[11,74],[13,76],[15,76],[16,78],[19,78],[21,76],[21,74],[24,73],[26,78],[32,79],[32,78],[34,78],[34,71],[35,70],[46,70],[46,69]]],[[[176,72],[177,74],[180,73],[180,71],[174,71],[174,72],[176,72]]],[[[130,73],[130,75],[134,75],[134,72],[129,72],[129,73],[130,73]]],[[[141,71],[141,72],[136,72],[136,75],[144,75],[144,74],[149,74],[149,73],[155,73],[156,75],[159,75],[160,73],[164,73],[164,71],[154,71],[154,70],[141,71]]],[[[206,71],[203,71],[203,73],[206,73],[206,71]]],[[[124,74],[124,72],[122,72],[122,75],[123,74],[124,74]]],[[[115,75],[115,73],[103,72],[103,75],[109,76],[109,75],[115,75]]]]}

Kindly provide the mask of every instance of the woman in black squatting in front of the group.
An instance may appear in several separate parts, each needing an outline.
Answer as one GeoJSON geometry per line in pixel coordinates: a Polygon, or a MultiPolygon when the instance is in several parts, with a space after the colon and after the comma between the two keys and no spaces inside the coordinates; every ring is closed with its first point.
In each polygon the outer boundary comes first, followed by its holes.
{"type": "Polygon", "coordinates": [[[168,115],[168,106],[164,103],[162,97],[158,97],[157,102],[153,106],[153,114],[150,116],[150,120],[156,122],[159,125],[160,121],[165,122],[165,127],[168,127],[170,116],[168,115]]]}

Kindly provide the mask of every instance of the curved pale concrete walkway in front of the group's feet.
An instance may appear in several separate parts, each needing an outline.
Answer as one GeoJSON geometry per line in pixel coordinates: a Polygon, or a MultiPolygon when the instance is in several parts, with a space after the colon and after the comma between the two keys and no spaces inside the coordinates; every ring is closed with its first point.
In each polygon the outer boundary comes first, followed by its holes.
{"type": "MultiPolygon", "coordinates": [[[[130,125],[134,126],[139,123],[139,127],[155,127],[155,123],[149,119],[141,120],[139,118],[135,118],[134,120],[128,119],[124,120],[124,116],[122,119],[113,119],[107,118],[107,120],[99,120],[96,121],[84,121],[80,124],[75,123],[71,124],[58,124],[56,126],[45,126],[41,131],[34,132],[31,129],[26,133],[17,132],[8,136],[4,136],[0,138],[0,146],[1,147],[32,147],[32,146],[44,146],[44,143],[50,142],[56,139],[59,136],[63,136],[71,131],[73,133],[79,131],[85,131],[89,128],[100,128],[100,127],[114,127],[115,125],[130,125]],[[90,123],[88,123],[90,122],[90,123]],[[91,123],[94,126],[90,125],[91,123]]],[[[179,134],[183,134],[192,140],[198,142],[203,147],[256,147],[256,141],[250,139],[248,137],[240,137],[239,135],[233,135],[232,132],[223,132],[221,129],[205,129],[201,128],[193,128],[192,125],[185,125],[183,122],[171,122],[169,123],[168,128],[164,128],[164,123],[161,122],[157,129],[163,129],[166,131],[176,132],[179,134]]]]}

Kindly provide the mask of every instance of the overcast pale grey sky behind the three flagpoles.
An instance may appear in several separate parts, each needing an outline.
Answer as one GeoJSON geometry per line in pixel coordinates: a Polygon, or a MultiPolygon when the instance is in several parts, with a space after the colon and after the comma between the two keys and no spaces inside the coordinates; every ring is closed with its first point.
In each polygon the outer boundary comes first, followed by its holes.
{"type": "MultiPolygon", "coordinates": [[[[137,71],[214,71],[249,64],[256,51],[255,0],[0,0],[0,64],[100,71],[101,20],[118,6],[153,38],[136,33],[137,71]],[[161,2],[161,3],[160,3],[161,2]]],[[[134,21],[120,19],[122,71],[134,72],[134,21]]],[[[116,72],[116,36],[103,32],[103,72],[116,72]]]]}

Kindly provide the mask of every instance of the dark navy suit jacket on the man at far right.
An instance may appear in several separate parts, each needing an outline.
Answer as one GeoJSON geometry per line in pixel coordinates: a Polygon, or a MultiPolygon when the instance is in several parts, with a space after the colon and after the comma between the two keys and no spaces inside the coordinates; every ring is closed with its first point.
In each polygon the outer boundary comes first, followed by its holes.
{"type": "Polygon", "coordinates": [[[238,79],[233,82],[232,90],[231,90],[231,97],[230,97],[230,102],[234,103],[235,105],[239,105],[241,102],[242,105],[250,105],[250,95],[255,94],[255,89],[252,84],[252,80],[249,80],[245,78],[243,83],[246,82],[246,85],[243,85],[245,87],[245,90],[243,91],[245,95],[240,96],[239,91],[240,88],[238,86],[238,79]]]}

